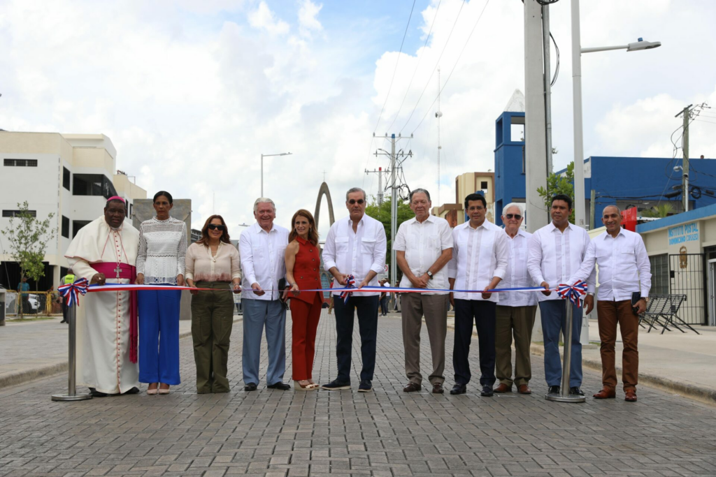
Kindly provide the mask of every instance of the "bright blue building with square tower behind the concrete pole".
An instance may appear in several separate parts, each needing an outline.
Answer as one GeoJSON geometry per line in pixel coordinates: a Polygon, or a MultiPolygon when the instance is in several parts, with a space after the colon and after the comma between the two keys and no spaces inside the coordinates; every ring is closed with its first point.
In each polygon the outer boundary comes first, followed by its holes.
{"type": "MultiPolygon", "coordinates": [[[[524,124],[523,112],[503,112],[495,122],[495,223],[510,202],[525,202],[525,143],[511,137],[516,125],[524,124]]],[[[689,209],[716,204],[716,160],[690,159],[689,209]]],[[[602,157],[584,159],[584,195],[587,222],[594,190],[594,217],[601,227],[601,212],[607,205],[640,212],[669,202],[672,213],[683,212],[682,159],[670,157],[602,157]]],[[[565,174],[566,169],[557,171],[565,174]]]]}

